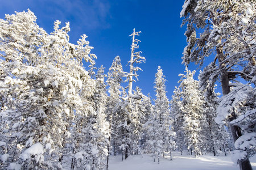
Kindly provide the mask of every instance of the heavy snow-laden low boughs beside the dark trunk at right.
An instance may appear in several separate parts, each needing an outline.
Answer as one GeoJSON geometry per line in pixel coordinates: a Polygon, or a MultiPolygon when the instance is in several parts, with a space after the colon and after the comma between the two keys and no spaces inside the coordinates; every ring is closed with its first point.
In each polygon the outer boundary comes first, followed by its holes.
{"type": "Polygon", "coordinates": [[[255,136],[255,116],[256,103],[255,89],[242,83],[232,83],[235,86],[230,94],[223,96],[218,107],[218,116],[216,122],[223,123],[229,119],[230,114],[236,114],[236,119],[230,124],[240,127],[239,138],[234,141],[233,161],[239,162],[242,159],[253,156],[256,152],[256,136],[255,136]]]}

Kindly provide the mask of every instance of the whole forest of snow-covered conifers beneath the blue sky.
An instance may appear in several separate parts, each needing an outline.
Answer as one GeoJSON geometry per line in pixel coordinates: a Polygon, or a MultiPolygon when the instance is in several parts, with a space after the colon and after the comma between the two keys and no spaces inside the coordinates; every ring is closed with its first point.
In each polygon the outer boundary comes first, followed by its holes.
{"type": "Polygon", "coordinates": [[[133,87],[146,59],[140,31],[130,35],[125,72],[119,56],[110,68],[96,68],[86,35],[69,42],[69,23],[60,28],[57,20],[48,34],[30,10],[6,15],[0,19],[0,169],[108,169],[110,155],[150,154],[159,162],[174,151],[233,153],[240,169],[252,169],[255,7],[254,1],[185,0],[183,64],[204,67],[199,80],[186,67],[170,100],[160,66],[155,99],[133,87]]]}

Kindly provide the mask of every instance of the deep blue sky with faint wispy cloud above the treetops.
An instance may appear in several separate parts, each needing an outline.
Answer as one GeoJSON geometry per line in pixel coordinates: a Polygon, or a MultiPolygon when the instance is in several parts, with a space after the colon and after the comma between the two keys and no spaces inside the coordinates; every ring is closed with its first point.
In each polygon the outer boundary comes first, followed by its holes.
{"type": "MultiPolygon", "coordinates": [[[[98,57],[96,67],[103,65],[105,73],[115,56],[121,57],[123,70],[129,71],[129,66],[126,66],[131,53],[129,35],[134,28],[142,31],[137,39],[141,40],[139,50],[141,56],[146,57],[146,63],[137,65],[143,71],[138,71],[139,81],[134,82],[133,89],[139,86],[144,95],[150,93],[155,98],[155,73],[161,66],[168,81],[167,97],[171,100],[175,86],[179,86],[178,75],[184,74],[185,70],[181,65],[187,44],[186,28],[180,27],[183,3],[174,0],[0,0],[0,18],[29,8],[37,16],[36,23],[47,33],[53,31],[56,20],[60,20],[60,27],[69,22],[70,41],[76,44],[80,35],[86,34],[90,46],[94,47],[91,52],[98,57]]],[[[189,70],[195,69],[193,63],[189,65],[189,70]]]]}

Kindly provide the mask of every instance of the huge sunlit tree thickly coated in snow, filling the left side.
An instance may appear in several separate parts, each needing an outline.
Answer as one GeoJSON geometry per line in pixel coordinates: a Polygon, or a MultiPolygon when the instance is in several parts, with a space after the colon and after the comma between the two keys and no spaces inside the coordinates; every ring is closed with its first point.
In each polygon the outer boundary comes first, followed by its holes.
{"type": "Polygon", "coordinates": [[[3,167],[61,169],[75,112],[90,113],[95,88],[82,59],[96,56],[85,35],[78,45],[69,42],[69,23],[59,28],[56,21],[48,35],[30,10],[6,15],[0,25],[3,167]]]}

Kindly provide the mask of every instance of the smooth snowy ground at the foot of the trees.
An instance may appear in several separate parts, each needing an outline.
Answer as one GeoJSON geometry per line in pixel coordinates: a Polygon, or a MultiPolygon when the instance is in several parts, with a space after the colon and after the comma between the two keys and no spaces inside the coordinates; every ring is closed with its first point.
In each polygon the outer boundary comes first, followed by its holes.
{"type": "MultiPolygon", "coordinates": [[[[109,170],[170,170],[170,169],[225,169],[239,170],[240,168],[231,160],[229,156],[213,156],[203,155],[199,158],[194,158],[191,155],[180,155],[179,152],[174,152],[174,158],[170,161],[170,157],[160,158],[160,164],[153,162],[150,155],[134,155],[129,156],[127,160],[122,162],[122,156],[110,156],[109,170]]],[[[256,169],[256,156],[251,158],[251,165],[256,169]]]]}

